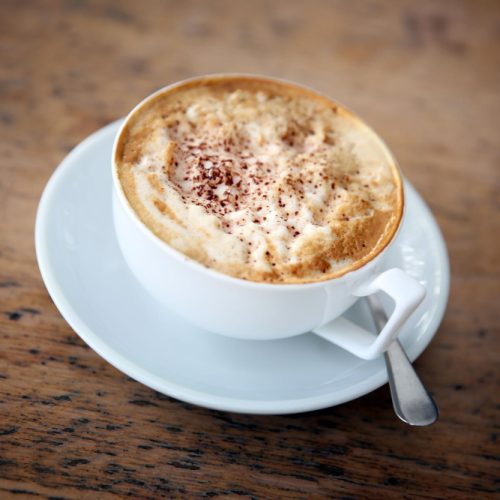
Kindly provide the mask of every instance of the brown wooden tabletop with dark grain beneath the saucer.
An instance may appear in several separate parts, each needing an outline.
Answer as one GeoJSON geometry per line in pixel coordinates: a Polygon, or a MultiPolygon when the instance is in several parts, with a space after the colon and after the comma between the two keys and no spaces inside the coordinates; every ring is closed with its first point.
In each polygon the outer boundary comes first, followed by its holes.
{"type": "Polygon", "coordinates": [[[0,498],[487,498],[499,492],[500,3],[0,4],[0,498]],[[388,388],[264,417],[193,407],[91,351],[47,295],[35,210],[79,141],[164,84],[246,71],[365,117],[450,251],[443,325],[416,362],[441,409],[388,388]]]}

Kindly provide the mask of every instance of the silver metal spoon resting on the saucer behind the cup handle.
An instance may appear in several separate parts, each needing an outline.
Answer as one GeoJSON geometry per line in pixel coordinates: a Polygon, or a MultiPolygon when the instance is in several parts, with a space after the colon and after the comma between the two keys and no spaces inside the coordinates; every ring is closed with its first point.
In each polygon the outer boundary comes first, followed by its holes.
{"type": "MultiPolygon", "coordinates": [[[[375,326],[380,331],[387,322],[384,308],[375,295],[367,297],[367,301],[375,326]]],[[[425,426],[436,422],[439,418],[436,403],[422,384],[398,339],[384,353],[384,359],[396,415],[410,425],[425,426]]]]}

